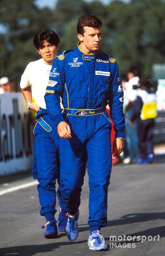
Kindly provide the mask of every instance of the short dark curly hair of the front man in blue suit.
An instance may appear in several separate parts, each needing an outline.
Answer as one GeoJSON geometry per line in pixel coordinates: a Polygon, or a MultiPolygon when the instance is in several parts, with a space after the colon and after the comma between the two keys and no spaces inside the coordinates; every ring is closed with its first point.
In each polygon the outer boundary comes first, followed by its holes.
{"type": "Polygon", "coordinates": [[[102,21],[98,19],[95,15],[86,14],[81,16],[77,22],[77,33],[82,35],[84,34],[83,27],[91,27],[91,28],[101,28],[102,21]]]}

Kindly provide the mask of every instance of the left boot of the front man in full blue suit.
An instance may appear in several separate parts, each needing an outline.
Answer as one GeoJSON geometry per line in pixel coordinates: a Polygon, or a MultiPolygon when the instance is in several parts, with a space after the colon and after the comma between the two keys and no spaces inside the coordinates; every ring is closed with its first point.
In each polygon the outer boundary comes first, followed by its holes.
{"type": "Polygon", "coordinates": [[[75,241],[77,239],[78,236],[78,217],[79,217],[79,210],[75,215],[70,215],[67,212],[67,238],[70,241],[75,241]]]}

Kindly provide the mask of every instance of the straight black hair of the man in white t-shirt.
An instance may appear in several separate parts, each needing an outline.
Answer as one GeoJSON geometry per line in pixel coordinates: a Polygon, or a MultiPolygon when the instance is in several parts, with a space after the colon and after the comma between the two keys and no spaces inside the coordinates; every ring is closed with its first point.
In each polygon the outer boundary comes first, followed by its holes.
{"type": "Polygon", "coordinates": [[[57,33],[51,29],[40,30],[35,34],[33,39],[33,44],[37,50],[40,49],[44,41],[49,42],[52,45],[59,44],[59,36],[57,33]]]}

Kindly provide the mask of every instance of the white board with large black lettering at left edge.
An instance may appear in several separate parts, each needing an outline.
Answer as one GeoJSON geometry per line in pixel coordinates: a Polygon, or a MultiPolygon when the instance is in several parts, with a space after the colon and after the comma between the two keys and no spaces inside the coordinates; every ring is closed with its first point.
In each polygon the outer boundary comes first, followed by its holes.
{"type": "Polygon", "coordinates": [[[0,94],[0,175],[31,169],[33,124],[21,92],[0,94]]]}

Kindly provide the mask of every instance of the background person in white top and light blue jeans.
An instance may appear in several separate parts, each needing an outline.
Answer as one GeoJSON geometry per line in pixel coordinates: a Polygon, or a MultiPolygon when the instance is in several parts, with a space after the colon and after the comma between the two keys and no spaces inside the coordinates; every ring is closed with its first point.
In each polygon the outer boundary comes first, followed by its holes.
{"type": "Polygon", "coordinates": [[[138,92],[138,89],[134,89],[134,86],[138,86],[139,76],[140,69],[136,66],[131,67],[127,72],[128,82],[124,83],[125,132],[129,153],[128,157],[123,160],[124,164],[136,163],[139,158],[137,122],[134,122],[132,126],[129,123],[138,92]]]}

